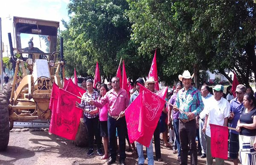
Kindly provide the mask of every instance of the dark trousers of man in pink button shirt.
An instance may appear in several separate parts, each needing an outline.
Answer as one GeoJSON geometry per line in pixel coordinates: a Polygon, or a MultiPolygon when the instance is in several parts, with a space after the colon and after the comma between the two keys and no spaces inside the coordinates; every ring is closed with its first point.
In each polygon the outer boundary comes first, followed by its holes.
{"type": "Polygon", "coordinates": [[[109,137],[109,149],[110,156],[113,160],[116,160],[116,128],[119,139],[119,154],[120,160],[126,158],[125,154],[125,136],[126,136],[126,122],[125,117],[121,117],[116,120],[112,117],[108,117],[108,137],[109,137]]]}

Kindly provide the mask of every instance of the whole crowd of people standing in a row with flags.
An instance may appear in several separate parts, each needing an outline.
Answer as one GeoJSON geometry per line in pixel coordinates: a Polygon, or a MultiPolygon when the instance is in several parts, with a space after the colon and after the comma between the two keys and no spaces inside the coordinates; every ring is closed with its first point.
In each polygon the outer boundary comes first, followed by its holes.
{"type": "MultiPolygon", "coordinates": [[[[233,128],[229,131],[228,154],[234,165],[239,163],[239,158],[242,165],[256,164],[256,94],[253,89],[241,84],[237,85],[235,93],[231,85],[227,87],[226,94],[223,85],[210,88],[204,84],[198,89],[193,85],[193,76],[189,71],[184,71],[178,77],[181,83],[177,83],[175,89],[166,95],[166,105],[154,130],[154,139],[146,147],[148,165],[154,165],[153,150],[156,160],[162,161],[161,133],[164,145],[173,149],[181,165],[188,164],[188,155],[190,164],[197,165],[198,154],[206,158],[207,165],[212,165],[213,159],[216,164],[224,165],[224,159],[212,157],[209,124],[233,128]]],[[[156,93],[155,83],[153,77],[145,82],[138,78],[129,96],[127,91],[120,88],[118,77],[113,77],[107,84],[97,83],[96,88],[93,88],[91,79],[82,82],[81,88],[87,91],[81,103],[76,102],[76,106],[84,110],[89,137],[88,156],[94,154],[95,139],[97,154],[102,155],[101,159],[110,156],[108,165],[116,162],[117,152],[120,164],[125,165],[125,151],[133,151],[134,155],[138,155],[137,165],[144,164],[143,145],[136,142],[135,147],[134,143],[129,142],[124,111],[139,95],[140,85],[156,93]],[[101,148],[102,138],[104,152],[101,148]],[[125,148],[125,139],[128,141],[128,149],[125,148]]]]}

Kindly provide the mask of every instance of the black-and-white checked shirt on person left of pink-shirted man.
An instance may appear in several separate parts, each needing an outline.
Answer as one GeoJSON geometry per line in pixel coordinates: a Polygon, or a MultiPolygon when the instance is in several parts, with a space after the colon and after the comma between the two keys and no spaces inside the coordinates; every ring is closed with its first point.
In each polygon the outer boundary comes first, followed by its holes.
{"type": "MultiPolygon", "coordinates": [[[[99,93],[95,90],[93,90],[93,94],[91,96],[88,95],[88,91],[86,91],[83,96],[82,96],[82,99],[84,100],[97,100],[99,97],[99,93]]],[[[91,111],[91,110],[94,110],[96,108],[95,105],[90,105],[88,102],[84,101],[84,100],[81,100],[81,104],[78,105],[79,108],[82,108],[86,111],[91,111]]],[[[88,117],[88,118],[95,118],[97,116],[99,116],[99,114],[93,114],[93,115],[90,115],[89,113],[87,113],[86,111],[84,111],[84,116],[88,117]]]]}

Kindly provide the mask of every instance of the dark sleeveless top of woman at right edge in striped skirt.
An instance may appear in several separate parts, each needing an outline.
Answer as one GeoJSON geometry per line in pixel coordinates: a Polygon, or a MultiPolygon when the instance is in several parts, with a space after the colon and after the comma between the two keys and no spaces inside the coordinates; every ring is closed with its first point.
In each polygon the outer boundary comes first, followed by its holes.
{"type": "MultiPolygon", "coordinates": [[[[240,116],[240,122],[245,124],[252,124],[253,123],[253,117],[256,116],[256,107],[254,107],[250,112],[245,113],[246,108],[244,108],[244,111],[242,111],[240,116]]],[[[245,136],[256,136],[256,129],[247,129],[244,127],[241,127],[240,135],[245,136]]]]}

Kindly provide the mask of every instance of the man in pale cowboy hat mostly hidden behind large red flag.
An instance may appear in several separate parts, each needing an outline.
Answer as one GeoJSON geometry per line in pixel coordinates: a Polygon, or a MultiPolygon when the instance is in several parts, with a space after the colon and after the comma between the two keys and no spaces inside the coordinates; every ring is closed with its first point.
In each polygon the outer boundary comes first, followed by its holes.
{"type": "MultiPolygon", "coordinates": [[[[151,91],[151,92],[157,92],[154,89],[156,81],[154,80],[154,77],[149,77],[148,80],[145,81],[145,86],[151,91]]],[[[160,128],[159,128],[159,122],[157,123],[157,128],[154,131],[154,144],[155,144],[155,153],[156,153],[156,159],[157,161],[162,161],[161,159],[161,147],[160,147],[160,128]]]]}

